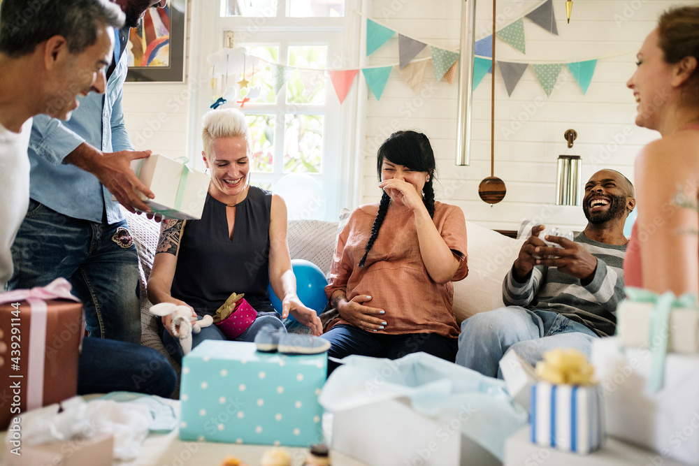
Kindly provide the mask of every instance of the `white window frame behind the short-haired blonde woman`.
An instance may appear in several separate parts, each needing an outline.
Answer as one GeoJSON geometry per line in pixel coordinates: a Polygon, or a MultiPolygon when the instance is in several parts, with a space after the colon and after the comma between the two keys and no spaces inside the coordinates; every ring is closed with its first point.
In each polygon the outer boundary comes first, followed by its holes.
{"type": "MultiPolygon", "coordinates": [[[[253,0],[254,1],[254,0],[253,0]]],[[[190,77],[192,99],[189,112],[189,151],[194,156],[195,166],[203,168],[201,161],[201,117],[209,110],[210,76],[206,57],[224,47],[226,31],[233,31],[233,45],[278,45],[278,60],[287,64],[286,47],[289,45],[327,45],[328,68],[358,67],[359,41],[356,32],[349,37],[348,31],[359,31],[359,15],[351,13],[361,0],[346,0],[345,17],[299,18],[284,17],[287,2],[278,0],[276,17],[222,17],[226,0],[196,0],[192,5],[192,27],[190,29],[190,77]]],[[[361,78],[361,73],[358,78],[361,78]]],[[[355,78],[357,79],[357,78],[355,78]]],[[[363,84],[363,83],[362,83],[363,84]]],[[[321,173],[307,173],[323,187],[324,220],[336,220],[342,207],[354,207],[361,196],[361,166],[355,153],[359,140],[356,131],[358,95],[353,85],[343,105],[340,105],[332,82],[325,77],[324,112],[318,112],[318,105],[287,104],[287,87],[277,95],[277,103],[245,103],[246,115],[270,114],[277,109],[275,117],[275,153],[273,173],[252,173],[253,182],[275,182],[284,175],[284,115],[288,113],[318,115],[324,114],[324,134],[322,147],[321,173]],[[287,108],[293,111],[286,112],[287,108]]]]}

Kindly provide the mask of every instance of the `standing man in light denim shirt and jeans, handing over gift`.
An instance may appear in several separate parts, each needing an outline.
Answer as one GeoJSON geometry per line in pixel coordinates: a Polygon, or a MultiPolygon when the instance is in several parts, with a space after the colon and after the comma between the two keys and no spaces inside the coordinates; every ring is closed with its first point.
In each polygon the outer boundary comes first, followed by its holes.
{"type": "Polygon", "coordinates": [[[85,303],[92,336],[140,343],[138,256],[119,204],[150,212],[134,188],[152,197],[130,169],[134,152],[124,127],[123,84],[129,28],[166,0],[113,0],[127,16],[116,31],[103,95],[89,94],[69,122],[34,118],[29,143],[29,210],[13,245],[10,289],[43,286],[56,277],[85,303]]]}

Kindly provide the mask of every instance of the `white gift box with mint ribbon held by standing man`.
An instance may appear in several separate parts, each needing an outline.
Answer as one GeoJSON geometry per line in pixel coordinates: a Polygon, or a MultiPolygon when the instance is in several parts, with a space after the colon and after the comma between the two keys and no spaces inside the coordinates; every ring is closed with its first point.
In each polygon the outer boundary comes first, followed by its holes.
{"type": "Polygon", "coordinates": [[[201,219],[211,181],[209,175],[161,154],[151,154],[135,162],[138,179],[155,194],[153,199],[141,195],[154,213],[172,219],[201,219]]]}

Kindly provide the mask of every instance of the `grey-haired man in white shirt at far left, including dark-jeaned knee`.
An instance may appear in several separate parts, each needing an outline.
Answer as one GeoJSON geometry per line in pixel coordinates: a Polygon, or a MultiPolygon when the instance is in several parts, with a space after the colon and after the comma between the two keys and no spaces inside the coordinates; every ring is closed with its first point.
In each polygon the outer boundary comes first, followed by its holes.
{"type": "MultiPolygon", "coordinates": [[[[105,92],[113,28],[122,24],[124,14],[107,0],[4,0],[0,5],[0,289],[12,275],[10,244],[29,203],[31,117],[47,112],[67,119],[78,105],[76,94],[105,92]]],[[[45,340],[62,344],[66,330],[81,332],[82,326],[66,323],[45,340]]],[[[1,340],[0,335],[3,347],[1,340]]],[[[166,358],[152,348],[100,338],[82,342],[80,394],[169,396],[176,380],[166,358]]],[[[0,398],[7,394],[0,388],[0,398]]]]}

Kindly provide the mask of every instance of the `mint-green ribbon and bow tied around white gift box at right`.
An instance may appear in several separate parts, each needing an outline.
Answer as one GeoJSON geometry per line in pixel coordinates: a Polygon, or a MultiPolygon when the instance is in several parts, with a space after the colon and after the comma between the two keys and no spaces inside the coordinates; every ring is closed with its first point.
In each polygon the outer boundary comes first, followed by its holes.
{"type": "Polygon", "coordinates": [[[692,293],[685,293],[677,298],[672,291],[665,291],[665,293],[658,295],[653,291],[633,286],[626,287],[626,296],[630,301],[654,304],[648,335],[648,347],[651,351],[651,375],[647,390],[649,393],[655,393],[663,388],[663,380],[665,379],[665,357],[668,355],[672,308],[685,307],[699,312],[696,306],[697,299],[692,293]]]}

